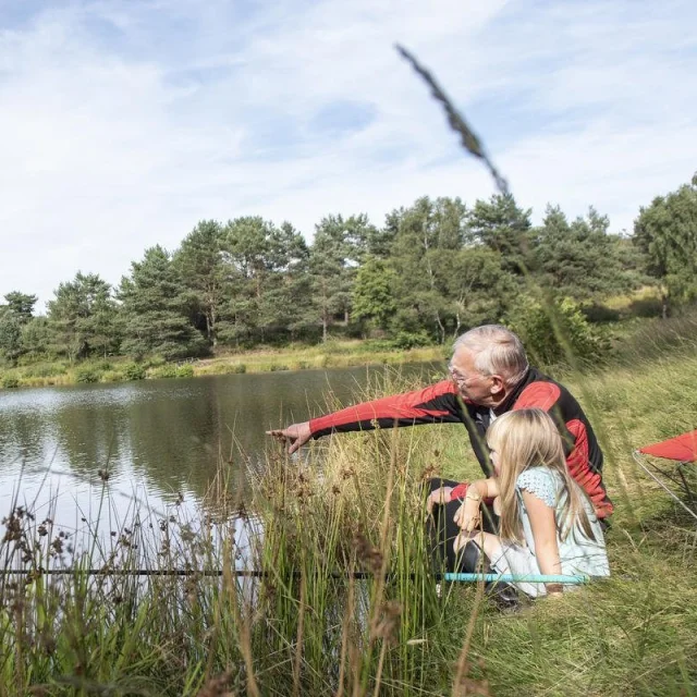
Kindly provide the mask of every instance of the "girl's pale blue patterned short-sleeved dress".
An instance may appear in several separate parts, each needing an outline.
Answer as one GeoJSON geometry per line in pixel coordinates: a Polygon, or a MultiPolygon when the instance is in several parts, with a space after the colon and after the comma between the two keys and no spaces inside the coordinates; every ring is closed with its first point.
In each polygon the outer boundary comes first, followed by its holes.
{"type": "MultiPolygon", "coordinates": [[[[577,486],[577,485],[574,485],[577,486]]],[[[521,523],[525,545],[502,540],[501,554],[491,560],[493,571],[501,574],[528,575],[539,574],[540,568],[535,557],[535,540],[533,539],[533,528],[523,501],[523,490],[534,493],[548,506],[555,510],[557,518],[557,543],[559,545],[559,557],[562,564],[562,574],[575,575],[586,574],[588,576],[609,576],[610,565],[606,551],[606,541],[602,535],[602,527],[594,513],[592,505],[583,496],[584,508],[590,522],[590,527],[596,537],[595,540],[587,538],[582,528],[576,525],[566,539],[562,540],[560,529],[564,528],[562,519],[562,509],[566,500],[566,491],[562,477],[559,473],[548,467],[529,467],[522,472],[517,478],[516,494],[518,497],[521,523]]],[[[516,583],[521,590],[528,596],[537,597],[546,595],[543,584],[516,583]]],[[[564,587],[570,588],[568,586],[564,587]]]]}

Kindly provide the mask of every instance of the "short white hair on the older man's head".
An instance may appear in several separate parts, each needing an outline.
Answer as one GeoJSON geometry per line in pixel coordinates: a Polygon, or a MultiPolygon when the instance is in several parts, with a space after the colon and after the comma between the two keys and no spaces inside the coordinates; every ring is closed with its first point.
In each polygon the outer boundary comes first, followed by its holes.
{"type": "Polygon", "coordinates": [[[525,348],[517,335],[502,325],[484,325],[461,334],[453,344],[453,354],[467,348],[481,375],[500,375],[509,387],[517,384],[527,372],[525,348]]]}

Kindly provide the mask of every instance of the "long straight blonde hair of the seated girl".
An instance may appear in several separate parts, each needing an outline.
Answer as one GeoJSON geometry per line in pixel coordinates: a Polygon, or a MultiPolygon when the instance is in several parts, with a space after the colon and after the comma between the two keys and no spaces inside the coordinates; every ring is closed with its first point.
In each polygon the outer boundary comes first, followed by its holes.
{"type": "Polygon", "coordinates": [[[559,473],[563,481],[559,494],[563,499],[561,515],[557,516],[561,539],[577,527],[588,539],[596,539],[584,508],[586,493],[568,474],[562,437],[547,412],[518,409],[503,414],[489,428],[487,443],[499,455],[501,537],[522,541],[515,482],[522,472],[542,466],[559,473]]]}

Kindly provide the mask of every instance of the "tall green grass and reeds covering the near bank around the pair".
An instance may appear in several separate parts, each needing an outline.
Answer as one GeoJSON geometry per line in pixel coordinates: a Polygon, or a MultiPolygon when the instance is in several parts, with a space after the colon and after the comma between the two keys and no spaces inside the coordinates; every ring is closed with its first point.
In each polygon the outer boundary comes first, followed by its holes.
{"type": "MultiPolygon", "coordinates": [[[[464,429],[343,435],[291,460],[270,450],[252,500],[222,469],[198,516],[136,511],[89,554],[15,510],[0,552],[25,571],[0,576],[0,697],[694,695],[697,533],[631,451],[694,427],[697,358],[643,355],[565,378],[607,455],[609,580],[514,615],[474,586],[439,598],[420,484],[478,474],[464,429]],[[241,557],[265,576],[237,577],[241,557]],[[163,575],[129,575],[143,567],[163,575]]],[[[388,374],[357,399],[409,387],[388,374]]]]}

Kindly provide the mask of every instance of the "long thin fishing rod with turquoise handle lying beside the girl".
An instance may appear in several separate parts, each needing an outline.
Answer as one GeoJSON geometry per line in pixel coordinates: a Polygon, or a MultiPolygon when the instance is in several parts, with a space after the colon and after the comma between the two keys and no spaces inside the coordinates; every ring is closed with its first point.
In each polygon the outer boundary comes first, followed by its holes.
{"type": "MultiPolygon", "coordinates": [[[[73,574],[86,574],[89,576],[204,576],[204,577],[220,577],[224,575],[234,576],[236,578],[273,578],[279,576],[272,571],[259,571],[259,570],[246,570],[246,568],[233,568],[224,571],[222,568],[208,568],[203,571],[191,568],[87,568],[87,570],[74,570],[74,568],[39,568],[39,570],[22,570],[22,568],[2,568],[0,575],[48,575],[48,576],[70,576],[73,574]]],[[[292,571],[290,575],[293,578],[301,578],[304,575],[301,571],[292,571]]],[[[375,578],[379,574],[368,571],[354,571],[354,572],[327,572],[322,574],[325,578],[354,578],[358,580],[375,578]]],[[[396,578],[403,578],[404,576],[394,573],[384,574],[386,580],[392,580],[396,578]]],[[[423,578],[423,574],[409,573],[406,574],[409,580],[416,580],[423,578]]],[[[445,580],[454,583],[528,583],[528,584],[566,584],[566,585],[580,585],[590,580],[586,575],[563,575],[563,574],[492,574],[492,573],[435,573],[430,576],[433,580],[445,580]]]]}

